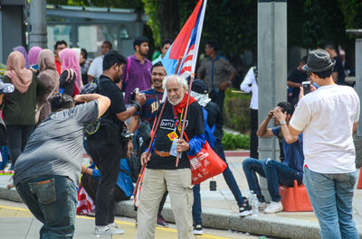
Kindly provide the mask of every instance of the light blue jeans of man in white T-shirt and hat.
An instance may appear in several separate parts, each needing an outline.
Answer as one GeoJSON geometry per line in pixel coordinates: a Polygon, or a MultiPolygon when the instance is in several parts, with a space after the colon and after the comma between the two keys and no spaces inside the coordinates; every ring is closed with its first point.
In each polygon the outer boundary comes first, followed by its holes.
{"type": "Polygon", "coordinates": [[[356,181],[356,171],[329,174],[304,168],[303,182],[319,220],[321,238],[359,238],[352,207],[356,181]]]}

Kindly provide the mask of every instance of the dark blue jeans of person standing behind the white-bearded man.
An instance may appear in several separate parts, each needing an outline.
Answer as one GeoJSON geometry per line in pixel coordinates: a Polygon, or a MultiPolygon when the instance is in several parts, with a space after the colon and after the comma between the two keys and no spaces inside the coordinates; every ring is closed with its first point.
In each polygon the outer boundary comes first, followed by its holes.
{"type": "MultiPolygon", "coordinates": [[[[226,162],[226,158],[225,158],[225,154],[224,154],[224,147],[223,147],[221,140],[217,139],[214,142],[213,150],[214,150],[214,152],[217,153],[217,155],[224,162],[226,162]]],[[[227,162],[226,162],[226,165],[227,165],[227,162]]],[[[236,183],[235,178],[233,178],[233,172],[232,172],[232,170],[230,170],[229,165],[227,165],[226,169],[224,170],[223,176],[224,176],[227,186],[230,188],[230,190],[233,193],[233,198],[235,198],[238,206],[242,207],[243,203],[244,203],[243,195],[236,183]]],[[[202,218],[201,218],[202,207],[201,207],[200,185],[199,184],[194,186],[193,192],[194,192],[193,218],[194,218],[195,225],[197,225],[197,224],[202,224],[202,222],[203,222],[202,218]]]]}

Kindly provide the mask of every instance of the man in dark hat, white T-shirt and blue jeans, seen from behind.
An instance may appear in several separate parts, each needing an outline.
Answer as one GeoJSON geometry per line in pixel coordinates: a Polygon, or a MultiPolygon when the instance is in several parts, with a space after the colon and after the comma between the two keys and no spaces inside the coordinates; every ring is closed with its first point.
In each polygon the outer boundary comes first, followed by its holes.
{"type": "Polygon", "coordinates": [[[357,181],[352,133],[360,103],[352,87],[334,83],[334,64],[327,51],[310,51],[303,69],[319,88],[300,98],[289,128],[292,135],[303,131],[303,182],[321,238],[359,238],[352,217],[357,181]]]}

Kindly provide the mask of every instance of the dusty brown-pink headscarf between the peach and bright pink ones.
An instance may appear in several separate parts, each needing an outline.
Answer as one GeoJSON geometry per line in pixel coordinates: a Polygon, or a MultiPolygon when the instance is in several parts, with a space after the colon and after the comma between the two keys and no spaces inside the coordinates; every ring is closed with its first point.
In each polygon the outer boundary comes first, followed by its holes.
{"type": "Polygon", "coordinates": [[[43,49],[42,51],[40,51],[38,62],[39,62],[40,73],[46,72],[49,74],[49,76],[51,76],[52,80],[59,81],[59,75],[55,68],[54,53],[52,53],[52,51],[50,51],[49,49],[43,49]]]}

